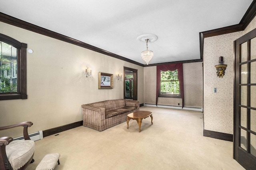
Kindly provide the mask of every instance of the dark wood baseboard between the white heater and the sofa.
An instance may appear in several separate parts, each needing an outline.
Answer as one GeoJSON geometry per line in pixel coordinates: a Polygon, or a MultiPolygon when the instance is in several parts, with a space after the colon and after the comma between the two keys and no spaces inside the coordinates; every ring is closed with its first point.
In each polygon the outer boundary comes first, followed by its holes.
{"type": "Polygon", "coordinates": [[[59,126],[59,127],[54,127],[52,129],[47,129],[43,131],[43,137],[47,137],[56,133],[60,133],[69,129],[73,129],[75,127],[79,127],[83,125],[83,121],[77,121],[74,123],[70,123],[67,125],[59,126]]]}

